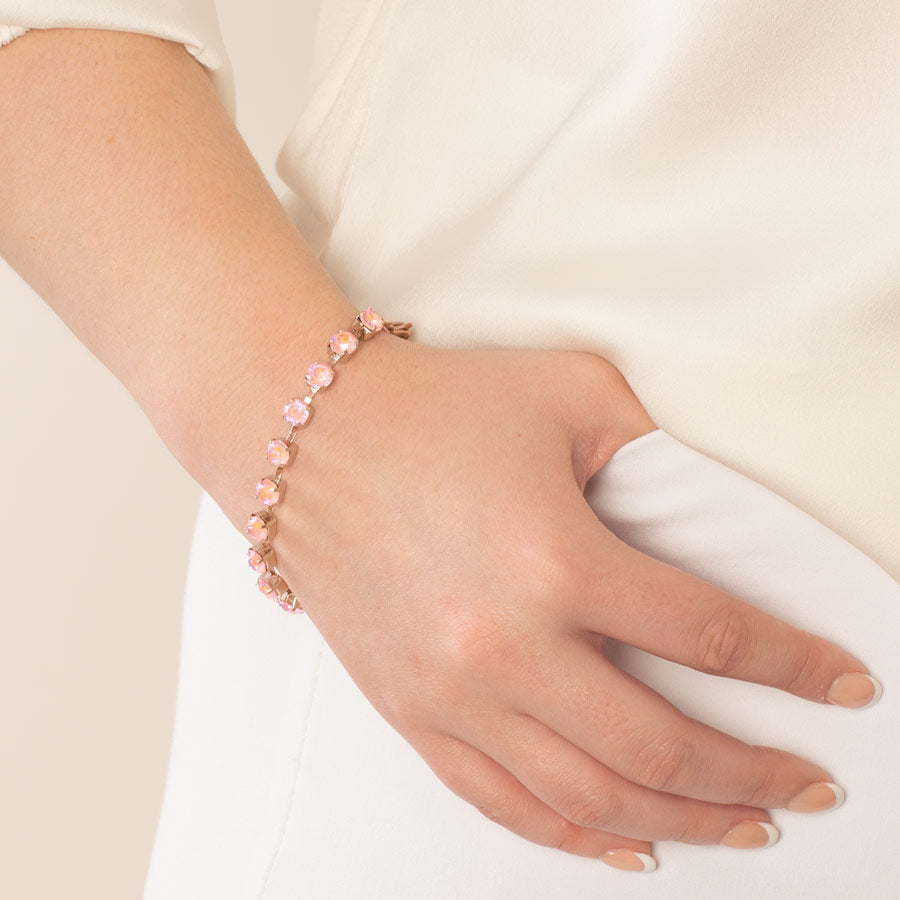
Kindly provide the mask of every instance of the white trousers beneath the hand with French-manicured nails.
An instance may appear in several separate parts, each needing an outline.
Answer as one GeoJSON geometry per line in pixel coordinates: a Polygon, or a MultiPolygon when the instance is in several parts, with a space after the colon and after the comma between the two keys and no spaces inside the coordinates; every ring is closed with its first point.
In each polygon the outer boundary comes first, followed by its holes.
{"type": "Polygon", "coordinates": [[[816,632],[884,685],[846,710],[610,642],[688,715],[799,753],[843,807],[771,812],[765,850],[655,845],[648,874],[540,847],[453,795],[369,705],[308,617],[265,601],[208,495],[191,552],[175,733],[144,900],[900,896],[900,585],[788,501],[657,430],[588,483],[627,543],[816,632]]]}

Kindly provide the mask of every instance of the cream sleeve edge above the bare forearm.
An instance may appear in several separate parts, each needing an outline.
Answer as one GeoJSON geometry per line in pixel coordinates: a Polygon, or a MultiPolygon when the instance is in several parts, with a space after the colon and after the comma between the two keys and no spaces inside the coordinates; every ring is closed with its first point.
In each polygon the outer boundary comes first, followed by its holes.
{"type": "MultiPolygon", "coordinates": [[[[0,47],[32,28],[109,28],[178,41],[209,72],[232,119],[234,73],[215,0],[0,0],[0,47]]],[[[0,51],[2,52],[2,51],[0,51]]]]}

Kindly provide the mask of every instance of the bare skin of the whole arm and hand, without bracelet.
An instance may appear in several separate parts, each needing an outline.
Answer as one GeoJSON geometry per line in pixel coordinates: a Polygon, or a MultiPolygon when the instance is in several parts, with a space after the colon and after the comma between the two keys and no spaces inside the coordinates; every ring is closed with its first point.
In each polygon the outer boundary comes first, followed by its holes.
{"type": "MultiPolygon", "coordinates": [[[[0,120],[0,254],[243,533],[281,404],[358,307],[182,45],[29,32],[0,52],[0,120]]],[[[597,520],[587,480],[655,427],[610,363],[384,335],[346,366],[302,436],[303,477],[286,470],[274,546],[351,676],[451,790],[599,857],[717,843],[834,780],[686,717],[604,656],[611,636],[811,702],[866,671],[597,520]]]]}

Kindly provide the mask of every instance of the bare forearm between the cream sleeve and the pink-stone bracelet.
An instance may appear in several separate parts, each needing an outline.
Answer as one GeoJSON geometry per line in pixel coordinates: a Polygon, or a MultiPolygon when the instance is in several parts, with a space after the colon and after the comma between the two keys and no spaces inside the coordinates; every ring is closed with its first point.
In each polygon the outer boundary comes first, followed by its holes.
{"type": "Polygon", "coordinates": [[[32,30],[0,51],[0,122],[0,255],[238,524],[280,403],[357,307],[182,44],[32,30]]]}

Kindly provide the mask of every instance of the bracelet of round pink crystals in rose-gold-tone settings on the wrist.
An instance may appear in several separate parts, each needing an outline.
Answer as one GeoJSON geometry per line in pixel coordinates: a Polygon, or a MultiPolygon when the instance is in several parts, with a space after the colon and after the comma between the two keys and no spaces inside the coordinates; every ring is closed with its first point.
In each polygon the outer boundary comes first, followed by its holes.
{"type": "Polygon", "coordinates": [[[275,535],[275,505],[284,499],[284,487],[281,476],[285,466],[293,459],[294,437],[297,431],[309,421],[310,404],[313,397],[328,387],[334,379],[332,366],[338,360],[352,354],[360,341],[367,341],[379,331],[387,330],[401,338],[409,338],[411,322],[385,322],[374,309],[363,310],[353,323],[342,331],[331,336],[328,349],[331,351],[331,364],[316,360],[310,363],[304,380],[307,384],[306,396],[292,397],[285,404],[282,416],[291,429],[283,438],[273,438],[266,446],[266,459],[275,466],[272,477],[260,478],[256,485],[256,499],[261,500],[264,508],[250,515],[247,521],[247,534],[255,543],[247,551],[247,562],[254,572],[259,573],[256,586],[265,597],[274,600],[283,610],[302,613],[297,596],[288,587],[284,576],[278,571],[275,562],[275,551],[271,540],[275,535]]]}

